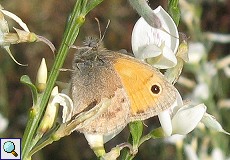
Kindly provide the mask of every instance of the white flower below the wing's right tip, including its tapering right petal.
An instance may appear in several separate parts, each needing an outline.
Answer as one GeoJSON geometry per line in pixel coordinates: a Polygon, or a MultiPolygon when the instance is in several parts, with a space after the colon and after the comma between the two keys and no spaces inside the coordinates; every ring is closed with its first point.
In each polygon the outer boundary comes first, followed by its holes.
{"type": "Polygon", "coordinates": [[[222,128],[215,117],[206,113],[206,109],[207,107],[204,104],[183,104],[178,92],[176,103],[158,115],[165,136],[174,134],[186,135],[191,132],[199,122],[202,122],[206,127],[214,131],[230,135],[229,132],[222,128]]]}

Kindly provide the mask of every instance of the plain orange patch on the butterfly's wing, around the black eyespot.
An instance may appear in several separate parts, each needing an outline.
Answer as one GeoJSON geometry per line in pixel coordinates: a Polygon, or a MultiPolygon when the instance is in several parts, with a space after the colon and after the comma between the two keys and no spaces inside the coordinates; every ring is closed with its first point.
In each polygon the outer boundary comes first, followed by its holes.
{"type": "Polygon", "coordinates": [[[131,103],[131,114],[137,115],[148,111],[150,107],[157,107],[156,101],[159,94],[153,94],[151,87],[159,85],[162,80],[154,69],[141,62],[118,58],[114,68],[121,78],[122,84],[128,94],[131,103]]]}

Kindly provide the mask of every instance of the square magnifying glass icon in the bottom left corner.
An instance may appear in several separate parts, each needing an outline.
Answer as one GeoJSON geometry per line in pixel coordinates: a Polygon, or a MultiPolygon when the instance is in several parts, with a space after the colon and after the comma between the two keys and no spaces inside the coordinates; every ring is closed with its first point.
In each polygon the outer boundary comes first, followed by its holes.
{"type": "Polygon", "coordinates": [[[21,160],[21,138],[0,138],[0,160],[21,160]]]}

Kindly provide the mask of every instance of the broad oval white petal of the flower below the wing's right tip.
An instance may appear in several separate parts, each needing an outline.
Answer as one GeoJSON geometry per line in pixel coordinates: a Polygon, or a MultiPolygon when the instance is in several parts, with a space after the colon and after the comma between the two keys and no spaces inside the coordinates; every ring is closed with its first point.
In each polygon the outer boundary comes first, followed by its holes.
{"type": "Polygon", "coordinates": [[[188,134],[202,119],[206,106],[199,104],[197,106],[183,106],[172,118],[173,134],[188,134]]]}

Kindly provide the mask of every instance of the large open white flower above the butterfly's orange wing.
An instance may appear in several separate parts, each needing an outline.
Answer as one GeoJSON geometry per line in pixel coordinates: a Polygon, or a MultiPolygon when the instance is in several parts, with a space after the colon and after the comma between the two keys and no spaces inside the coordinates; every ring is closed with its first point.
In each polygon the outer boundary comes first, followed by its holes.
{"type": "Polygon", "coordinates": [[[177,64],[176,52],[179,46],[177,27],[169,14],[161,7],[153,12],[161,20],[162,28],[151,27],[140,18],[132,32],[132,50],[135,57],[147,61],[159,69],[177,64]]]}

